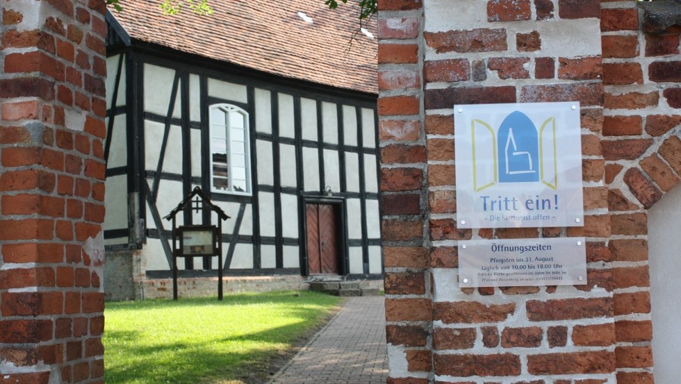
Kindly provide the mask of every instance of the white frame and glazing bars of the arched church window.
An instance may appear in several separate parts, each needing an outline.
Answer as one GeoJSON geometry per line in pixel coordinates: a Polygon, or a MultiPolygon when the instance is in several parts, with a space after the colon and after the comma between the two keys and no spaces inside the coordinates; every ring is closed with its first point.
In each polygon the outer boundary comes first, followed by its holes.
{"type": "MultiPolygon", "coordinates": [[[[248,112],[243,110],[243,108],[239,108],[238,106],[233,106],[232,104],[227,104],[227,103],[220,103],[220,104],[213,104],[212,106],[209,107],[208,109],[208,169],[210,169],[210,181],[211,183],[211,192],[215,193],[222,193],[222,194],[240,194],[240,195],[247,195],[250,196],[252,194],[252,174],[251,174],[251,143],[250,143],[250,127],[248,125],[248,112]],[[213,119],[213,111],[214,110],[219,110],[220,112],[224,113],[224,119],[222,122],[214,122],[213,119]],[[233,158],[232,156],[235,155],[233,151],[231,150],[232,148],[232,138],[230,137],[232,126],[229,125],[231,123],[231,114],[238,114],[243,116],[243,131],[244,131],[244,140],[243,140],[243,147],[245,151],[245,173],[246,173],[246,190],[245,191],[238,191],[234,189],[233,181],[234,178],[232,177],[235,172],[233,170],[233,158]],[[220,124],[220,125],[218,125],[220,124]],[[222,137],[218,137],[215,134],[215,130],[217,129],[224,129],[225,130],[225,138],[222,139],[222,137]],[[228,187],[223,189],[223,188],[218,188],[215,187],[214,183],[214,175],[213,175],[213,142],[215,140],[224,140],[225,141],[225,148],[227,148],[227,183],[228,187]]],[[[240,154],[240,153],[238,153],[240,154]]],[[[220,176],[218,176],[220,177],[220,176]]]]}

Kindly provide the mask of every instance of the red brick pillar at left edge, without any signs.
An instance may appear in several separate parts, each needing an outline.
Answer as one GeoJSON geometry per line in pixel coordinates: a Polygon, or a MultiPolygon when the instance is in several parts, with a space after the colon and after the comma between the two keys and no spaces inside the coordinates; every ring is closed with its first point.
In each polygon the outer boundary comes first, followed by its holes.
{"type": "Polygon", "coordinates": [[[103,383],[104,1],[1,8],[0,383],[103,383]]]}

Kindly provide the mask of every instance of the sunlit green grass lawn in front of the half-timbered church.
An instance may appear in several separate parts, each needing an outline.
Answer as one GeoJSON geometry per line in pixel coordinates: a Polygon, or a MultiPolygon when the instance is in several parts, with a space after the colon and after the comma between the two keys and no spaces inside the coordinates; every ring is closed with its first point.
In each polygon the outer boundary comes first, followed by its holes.
{"type": "Polygon", "coordinates": [[[340,299],[316,292],[106,303],[104,378],[115,383],[258,383],[340,299]]]}

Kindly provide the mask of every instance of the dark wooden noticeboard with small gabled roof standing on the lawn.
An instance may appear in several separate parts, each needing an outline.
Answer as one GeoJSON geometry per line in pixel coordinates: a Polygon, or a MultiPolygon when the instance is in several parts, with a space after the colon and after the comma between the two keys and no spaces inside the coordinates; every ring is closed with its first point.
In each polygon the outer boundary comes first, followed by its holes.
{"type": "Polygon", "coordinates": [[[177,300],[177,258],[217,257],[218,300],[222,300],[222,222],[229,216],[215,206],[201,188],[195,187],[165,219],[172,220],[172,299],[177,300]],[[211,210],[218,215],[218,225],[178,227],[175,216],[184,210],[211,210]]]}

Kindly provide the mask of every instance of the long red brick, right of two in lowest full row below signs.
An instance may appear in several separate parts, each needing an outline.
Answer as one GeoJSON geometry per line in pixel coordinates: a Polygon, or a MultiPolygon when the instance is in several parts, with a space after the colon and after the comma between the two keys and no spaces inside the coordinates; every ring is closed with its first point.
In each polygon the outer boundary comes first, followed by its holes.
{"type": "Polygon", "coordinates": [[[610,374],[615,356],[609,351],[546,353],[527,356],[527,372],[533,375],[610,374]]]}

